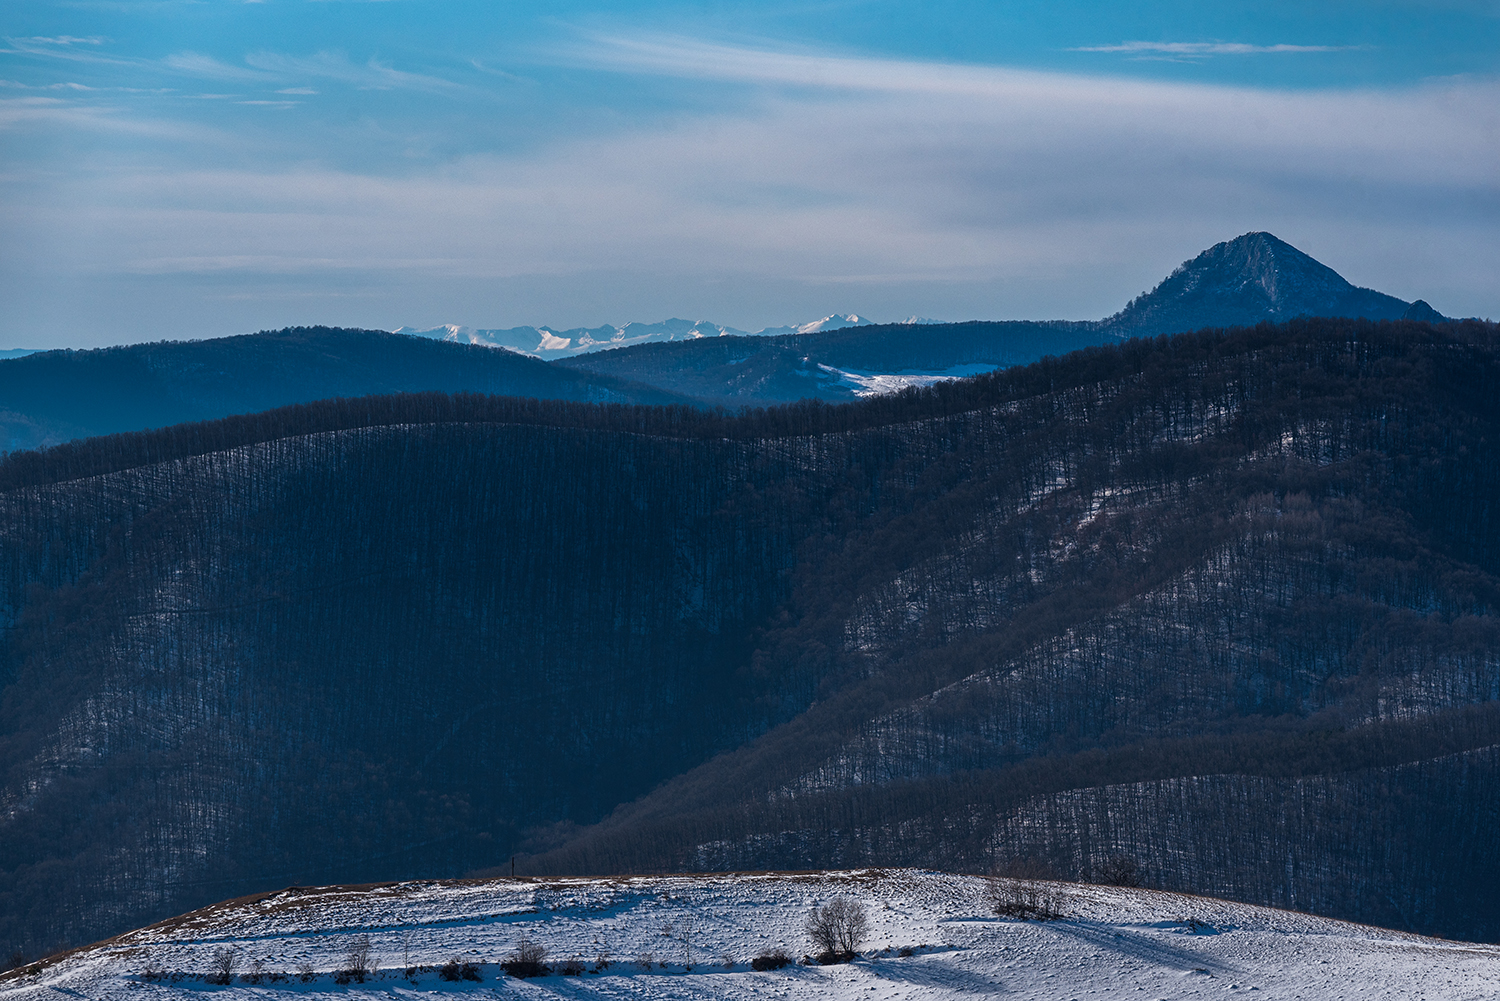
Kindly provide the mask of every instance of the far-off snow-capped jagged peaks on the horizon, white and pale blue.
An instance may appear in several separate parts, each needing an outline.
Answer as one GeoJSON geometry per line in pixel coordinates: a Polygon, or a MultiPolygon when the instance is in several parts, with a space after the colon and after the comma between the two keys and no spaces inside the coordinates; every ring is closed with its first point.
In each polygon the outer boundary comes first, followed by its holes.
{"type": "MultiPolygon", "coordinates": [[[[836,312],[812,323],[762,327],[760,330],[738,330],[706,320],[672,318],[660,323],[627,323],[622,327],[604,324],[602,327],[573,327],[570,330],[555,330],[552,327],[476,329],[446,323],[436,327],[398,327],[392,333],[453,341],[456,344],[477,344],[486,348],[506,348],[520,354],[554,359],[627,348],[634,344],[656,344],[660,341],[694,341],[698,338],[723,336],[776,338],[788,333],[819,333],[824,330],[842,330],[843,327],[866,327],[873,323],[873,320],[858,314],[836,312]]],[[[936,321],[910,317],[902,323],[936,321]]]]}

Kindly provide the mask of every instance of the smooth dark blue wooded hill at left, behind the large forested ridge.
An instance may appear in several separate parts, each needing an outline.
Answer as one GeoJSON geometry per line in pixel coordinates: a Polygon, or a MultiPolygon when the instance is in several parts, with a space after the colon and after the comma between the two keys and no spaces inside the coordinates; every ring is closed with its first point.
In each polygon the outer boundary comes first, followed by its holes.
{"type": "Polygon", "coordinates": [[[668,390],[566,372],[510,351],[384,330],[288,327],[0,360],[0,452],[332,396],[420,390],[682,402],[668,390]]]}

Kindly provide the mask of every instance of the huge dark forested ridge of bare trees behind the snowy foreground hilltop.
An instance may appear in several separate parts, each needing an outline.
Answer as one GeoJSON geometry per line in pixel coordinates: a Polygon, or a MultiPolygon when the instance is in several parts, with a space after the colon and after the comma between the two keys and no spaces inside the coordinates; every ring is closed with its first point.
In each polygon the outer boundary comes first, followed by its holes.
{"type": "Polygon", "coordinates": [[[1024,861],[1500,936],[1500,329],[0,462],[0,947],[300,882],[1024,861]],[[603,821],[603,822],[598,822],[603,821]]]}

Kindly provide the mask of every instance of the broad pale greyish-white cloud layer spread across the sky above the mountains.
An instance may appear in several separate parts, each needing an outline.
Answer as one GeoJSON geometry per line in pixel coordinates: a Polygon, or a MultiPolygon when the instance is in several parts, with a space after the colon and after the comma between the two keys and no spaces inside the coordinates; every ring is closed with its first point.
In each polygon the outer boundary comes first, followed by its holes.
{"type": "MultiPolygon", "coordinates": [[[[812,312],[814,294],[832,299],[818,300],[826,309],[888,315],[1098,317],[1248,230],[1270,230],[1359,284],[1444,312],[1492,312],[1491,293],[1468,303],[1440,293],[1492,288],[1500,273],[1494,80],[1263,90],[663,35],[586,38],[554,57],[722,81],[747,99],[394,167],[399,158],[346,150],[342,161],[308,156],[322,137],[266,152],[237,126],[244,156],[219,159],[234,170],[174,159],[165,144],[144,167],[122,158],[88,176],[39,170],[27,197],[6,203],[8,233],[51,248],[28,255],[38,273],[117,282],[142,317],[166,308],[148,290],[180,303],[213,282],[218,299],[201,293],[180,308],[196,309],[202,329],[226,323],[225,297],[246,303],[236,314],[246,327],[273,326],[256,296],[304,296],[304,312],[276,314],[288,323],[352,323],[340,299],[352,290],[400,317],[430,303],[440,318],[496,326],[622,312],[784,323],[812,312]],[[496,291],[518,288],[531,297],[496,291]],[[802,299],[786,315],[726,309],[746,288],[802,299]],[[654,290],[650,302],[640,290],[654,290]]],[[[459,93],[330,53],[261,53],[246,69],[288,92],[336,80],[459,93]]],[[[272,90],[213,89],[237,99],[272,90]]],[[[87,120],[57,104],[12,114],[87,120]]],[[[420,132],[381,125],[386,149],[420,132]]]]}

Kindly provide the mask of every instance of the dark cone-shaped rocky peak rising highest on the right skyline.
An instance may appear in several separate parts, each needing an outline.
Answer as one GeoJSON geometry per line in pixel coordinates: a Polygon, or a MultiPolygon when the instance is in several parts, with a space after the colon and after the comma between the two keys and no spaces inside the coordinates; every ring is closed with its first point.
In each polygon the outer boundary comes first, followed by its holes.
{"type": "Polygon", "coordinates": [[[1412,314],[1413,309],[1416,303],[1350,285],[1332,267],[1286,240],[1246,233],[1184,261],[1156,288],[1102,324],[1116,336],[1134,338],[1293,317],[1443,320],[1425,302],[1422,311],[1412,314]]]}

